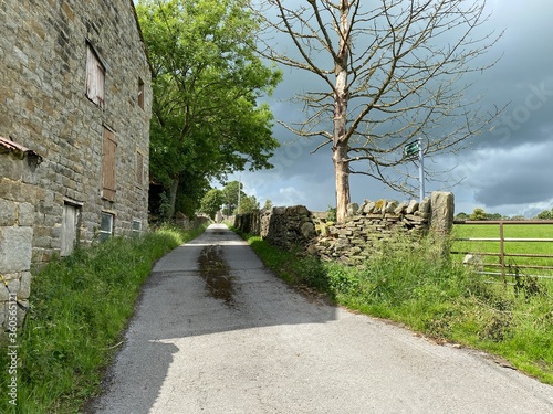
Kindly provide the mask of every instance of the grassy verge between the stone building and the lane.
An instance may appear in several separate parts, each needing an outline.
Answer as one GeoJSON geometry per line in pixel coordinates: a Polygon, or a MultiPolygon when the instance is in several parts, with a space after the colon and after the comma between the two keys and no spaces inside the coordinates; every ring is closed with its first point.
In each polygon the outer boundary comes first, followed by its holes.
{"type": "Polygon", "coordinates": [[[82,412],[100,392],[153,264],[204,230],[163,226],[138,238],[114,237],[33,275],[31,308],[18,338],[15,405],[7,396],[10,358],[6,344],[0,349],[0,413],[82,412]]]}

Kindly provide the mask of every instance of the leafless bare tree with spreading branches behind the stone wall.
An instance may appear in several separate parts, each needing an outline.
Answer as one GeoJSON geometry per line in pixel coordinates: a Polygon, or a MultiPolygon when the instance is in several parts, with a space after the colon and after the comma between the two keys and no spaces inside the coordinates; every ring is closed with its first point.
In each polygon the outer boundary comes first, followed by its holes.
{"type": "Polygon", "coordinates": [[[467,98],[470,84],[461,79],[494,63],[480,59],[501,35],[481,32],[483,0],[260,1],[261,53],[324,85],[295,97],[303,123],[282,124],[322,138],[313,152],[332,147],[338,221],[351,202],[351,173],[413,193],[403,153],[408,142],[422,138],[426,156],[459,150],[497,116],[467,98]],[[280,49],[282,33],[293,54],[280,49]],[[354,170],[354,161],[367,162],[354,170]]]}

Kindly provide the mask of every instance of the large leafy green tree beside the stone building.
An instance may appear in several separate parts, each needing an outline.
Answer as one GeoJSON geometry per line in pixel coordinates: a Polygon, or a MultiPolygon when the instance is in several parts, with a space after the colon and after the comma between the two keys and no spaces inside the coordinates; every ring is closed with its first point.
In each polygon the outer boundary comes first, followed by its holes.
{"type": "Polygon", "coordinates": [[[136,11],[153,67],[150,172],[170,217],[180,192],[199,188],[180,197],[192,209],[210,179],[272,167],[273,116],[258,99],[281,73],[255,54],[240,0],[139,0],[136,11]]]}

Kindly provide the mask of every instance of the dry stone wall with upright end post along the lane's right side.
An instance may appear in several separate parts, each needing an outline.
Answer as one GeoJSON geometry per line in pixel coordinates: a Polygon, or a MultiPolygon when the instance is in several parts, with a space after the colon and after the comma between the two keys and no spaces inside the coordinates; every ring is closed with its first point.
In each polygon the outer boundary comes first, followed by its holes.
{"type": "Polygon", "coordinates": [[[361,206],[351,204],[347,220],[340,224],[299,205],[238,215],[234,226],[281,248],[300,246],[325,261],[355,264],[385,241],[416,241],[429,232],[446,234],[452,223],[453,194],[434,192],[421,203],[365,200],[361,206]]]}

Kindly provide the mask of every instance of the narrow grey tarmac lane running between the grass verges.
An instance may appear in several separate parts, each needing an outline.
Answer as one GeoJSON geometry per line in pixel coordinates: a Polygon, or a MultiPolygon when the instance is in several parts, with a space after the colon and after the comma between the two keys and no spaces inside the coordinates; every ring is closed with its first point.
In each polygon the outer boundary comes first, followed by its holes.
{"type": "Polygon", "coordinates": [[[309,300],[223,225],[160,259],[92,412],[553,413],[482,354],[309,300]]]}

